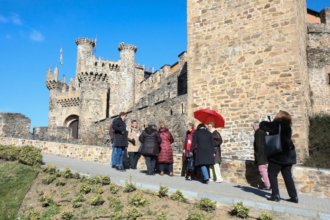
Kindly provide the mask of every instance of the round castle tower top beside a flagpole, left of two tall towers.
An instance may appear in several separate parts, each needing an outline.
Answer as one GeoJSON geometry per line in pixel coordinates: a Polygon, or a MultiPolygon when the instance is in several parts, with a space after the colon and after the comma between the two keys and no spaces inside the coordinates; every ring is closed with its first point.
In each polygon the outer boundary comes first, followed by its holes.
{"type": "Polygon", "coordinates": [[[88,38],[77,38],[75,40],[78,49],[77,49],[77,64],[76,64],[76,75],[80,69],[80,62],[84,58],[85,60],[89,60],[93,55],[93,48],[95,47],[95,41],[93,39],[88,38]]]}

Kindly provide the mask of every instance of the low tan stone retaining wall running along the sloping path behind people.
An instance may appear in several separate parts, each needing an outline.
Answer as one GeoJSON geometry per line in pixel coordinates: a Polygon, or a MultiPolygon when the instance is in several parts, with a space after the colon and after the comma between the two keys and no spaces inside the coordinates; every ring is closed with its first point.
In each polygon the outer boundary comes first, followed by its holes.
{"type": "MultiPolygon", "coordinates": [[[[33,145],[44,154],[69,157],[98,163],[111,163],[112,149],[109,147],[89,146],[82,144],[68,144],[49,141],[27,140],[19,138],[0,137],[0,145],[33,145]]],[[[181,153],[174,153],[174,174],[184,175],[182,172],[181,153]]],[[[127,159],[127,157],[126,157],[127,159]]],[[[146,169],[144,157],[138,162],[139,169],[146,169]]],[[[224,182],[258,186],[262,184],[261,176],[254,161],[222,158],[221,174],[224,182]]],[[[201,177],[200,168],[198,176],[201,177]]],[[[303,166],[293,166],[292,176],[299,193],[330,199],[330,170],[303,166]]],[[[182,179],[183,181],[183,179],[182,179]]],[[[285,189],[284,180],[278,176],[280,190],[285,189]]]]}

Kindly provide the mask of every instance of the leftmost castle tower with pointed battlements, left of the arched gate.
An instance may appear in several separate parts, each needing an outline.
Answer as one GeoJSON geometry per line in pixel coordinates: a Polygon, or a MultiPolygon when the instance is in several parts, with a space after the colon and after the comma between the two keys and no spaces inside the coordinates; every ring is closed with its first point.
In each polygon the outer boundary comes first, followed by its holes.
{"type": "Polygon", "coordinates": [[[51,73],[51,67],[49,67],[47,70],[46,86],[49,89],[48,127],[49,132],[51,132],[52,128],[55,128],[56,126],[62,126],[59,124],[62,116],[62,107],[61,104],[57,102],[57,94],[58,92],[61,92],[62,86],[58,81],[57,65],[54,69],[54,74],[51,73]]]}

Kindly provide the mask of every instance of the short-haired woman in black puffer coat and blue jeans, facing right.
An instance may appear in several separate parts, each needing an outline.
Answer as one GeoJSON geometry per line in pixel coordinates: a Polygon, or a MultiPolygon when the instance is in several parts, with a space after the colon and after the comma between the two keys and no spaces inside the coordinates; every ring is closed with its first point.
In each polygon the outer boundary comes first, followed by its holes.
{"type": "Polygon", "coordinates": [[[112,128],[115,130],[113,146],[117,149],[116,171],[126,171],[123,166],[125,147],[128,146],[128,129],[125,124],[126,116],[127,114],[125,112],[120,112],[118,118],[114,119],[114,123],[112,125],[112,128]]]}

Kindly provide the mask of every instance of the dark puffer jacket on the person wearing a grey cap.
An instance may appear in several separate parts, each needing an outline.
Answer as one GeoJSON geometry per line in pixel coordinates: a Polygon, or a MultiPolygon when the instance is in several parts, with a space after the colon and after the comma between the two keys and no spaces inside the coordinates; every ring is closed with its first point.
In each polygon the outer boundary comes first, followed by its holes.
{"type": "Polygon", "coordinates": [[[139,141],[143,144],[142,155],[159,155],[158,146],[162,142],[156,128],[146,127],[139,137],[139,141]]]}

